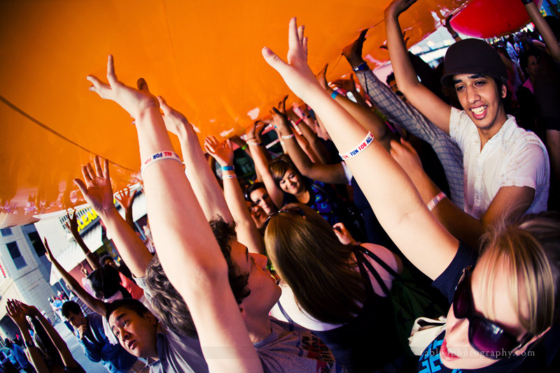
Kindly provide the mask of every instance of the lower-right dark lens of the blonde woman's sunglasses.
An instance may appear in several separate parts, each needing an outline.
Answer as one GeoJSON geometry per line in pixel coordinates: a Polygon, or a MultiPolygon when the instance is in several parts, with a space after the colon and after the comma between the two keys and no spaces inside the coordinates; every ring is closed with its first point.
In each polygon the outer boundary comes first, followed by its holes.
{"type": "Polygon", "coordinates": [[[469,339],[475,349],[489,358],[505,357],[517,346],[517,339],[499,326],[481,318],[469,320],[469,339]]]}

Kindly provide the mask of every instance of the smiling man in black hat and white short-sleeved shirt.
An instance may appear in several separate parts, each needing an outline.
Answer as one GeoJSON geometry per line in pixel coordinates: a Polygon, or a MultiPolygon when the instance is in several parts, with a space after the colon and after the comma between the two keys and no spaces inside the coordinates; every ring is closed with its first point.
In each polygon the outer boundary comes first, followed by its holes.
{"type": "Polygon", "coordinates": [[[505,114],[507,71],[498,52],[477,39],[449,47],[442,85],[455,89],[463,110],[452,108],[421,85],[407,57],[398,16],[414,2],[394,0],[386,8],[388,51],[400,91],[463,152],[466,214],[449,201],[438,204],[445,198],[437,186],[412,177],[423,200],[461,238],[479,237],[487,225],[503,217],[546,211],[548,154],[534,133],[505,114]]]}

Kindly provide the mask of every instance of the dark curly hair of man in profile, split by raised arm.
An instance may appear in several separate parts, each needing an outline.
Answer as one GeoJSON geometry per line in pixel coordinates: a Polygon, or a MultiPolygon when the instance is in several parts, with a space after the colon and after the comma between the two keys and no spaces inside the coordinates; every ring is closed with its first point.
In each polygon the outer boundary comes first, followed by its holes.
{"type": "MultiPolygon", "coordinates": [[[[251,290],[247,287],[248,273],[241,273],[239,267],[233,263],[231,258],[230,244],[232,240],[237,238],[236,225],[235,223],[226,223],[219,216],[211,219],[209,224],[225,261],[228,263],[228,279],[232,293],[237,304],[241,304],[244,298],[251,293],[251,290]]],[[[148,264],[148,268],[146,268],[146,284],[152,293],[153,309],[162,323],[179,335],[186,334],[190,337],[197,337],[197,330],[188,306],[165,275],[157,255],[153,257],[148,264]]]]}

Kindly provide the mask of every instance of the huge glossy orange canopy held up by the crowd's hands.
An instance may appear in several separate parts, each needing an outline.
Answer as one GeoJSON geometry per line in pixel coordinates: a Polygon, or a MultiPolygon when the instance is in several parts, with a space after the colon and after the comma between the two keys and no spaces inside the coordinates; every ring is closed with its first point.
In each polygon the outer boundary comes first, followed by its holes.
{"type": "MultiPolygon", "coordinates": [[[[0,226],[83,203],[71,180],[81,177],[80,165],[94,154],[111,161],[115,190],[139,181],[130,117],[87,89],[87,74],[104,78],[108,54],[120,80],[134,85],[146,78],[151,92],[186,114],[201,140],[226,138],[252,123],[248,112],[267,115],[289,93],[260,50],[267,45],[286,55],[290,17],[306,25],[311,68],[319,71],[328,62],[334,80],[350,71],[342,47],[365,27],[371,29],[364,53],[388,59],[379,49],[388,3],[2,1],[0,226]]],[[[464,3],[419,0],[400,17],[409,46],[464,3]]]]}

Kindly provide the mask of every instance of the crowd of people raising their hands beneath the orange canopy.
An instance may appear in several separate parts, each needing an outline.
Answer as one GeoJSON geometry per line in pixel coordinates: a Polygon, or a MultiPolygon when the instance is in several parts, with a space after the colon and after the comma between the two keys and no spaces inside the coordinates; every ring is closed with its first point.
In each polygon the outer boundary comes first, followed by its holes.
{"type": "MultiPolygon", "coordinates": [[[[328,83],[327,66],[311,72],[293,18],[286,60],[262,55],[303,103],[283,98],[244,139],[210,136],[204,150],[185,115],[143,78],[120,82],[109,56],[107,82],[87,80],[134,118],[151,240],[134,231],[134,195],[120,193],[121,217],[109,162],[95,156],[74,182],[123,264],[99,261],[69,216],[91,270],[80,284],[45,240],[83,302],[60,310],[87,358],[110,372],[558,367],[560,30],[521,1],[542,40],[495,48],[452,32],[432,70],[407,52],[398,21],[415,0],[394,0],[387,85],[363,59],[367,30],[342,49],[359,86],[328,83]],[[274,158],[270,126],[284,153],[274,158]],[[253,159],[254,180],[236,174],[234,143],[253,159]],[[419,358],[395,318],[405,276],[447,312],[429,315],[447,320],[419,358]]],[[[8,314],[37,372],[83,372],[36,307],[11,300],[8,314]]]]}

